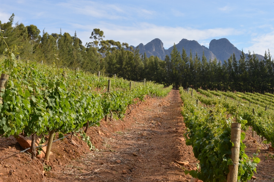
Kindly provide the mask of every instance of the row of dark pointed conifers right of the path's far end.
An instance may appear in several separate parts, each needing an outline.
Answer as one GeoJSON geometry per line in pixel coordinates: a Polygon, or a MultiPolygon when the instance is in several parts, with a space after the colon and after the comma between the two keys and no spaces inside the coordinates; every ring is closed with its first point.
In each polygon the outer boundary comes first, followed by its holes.
{"type": "Polygon", "coordinates": [[[207,61],[206,57],[190,56],[177,50],[175,44],[170,57],[166,56],[166,84],[175,88],[202,88],[209,90],[239,92],[274,92],[274,60],[265,51],[264,59],[259,60],[256,54],[248,56],[242,50],[239,60],[235,54],[221,64],[216,58],[207,61]]]}

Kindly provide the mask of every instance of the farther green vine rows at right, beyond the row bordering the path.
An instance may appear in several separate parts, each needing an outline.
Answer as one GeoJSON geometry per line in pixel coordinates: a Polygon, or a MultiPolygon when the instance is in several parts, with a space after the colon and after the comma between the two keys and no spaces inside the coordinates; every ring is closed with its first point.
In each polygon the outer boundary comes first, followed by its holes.
{"type": "MultiPolygon", "coordinates": [[[[209,90],[202,90],[198,89],[198,91],[203,95],[198,95],[198,99],[206,104],[215,104],[215,99],[207,98],[209,94],[214,95],[225,95],[227,96],[227,100],[224,97],[220,99],[219,102],[227,109],[229,114],[232,114],[234,117],[236,116],[237,112],[237,98],[239,97],[240,102],[243,104],[241,109],[238,112],[238,116],[240,118],[240,122],[244,123],[245,129],[247,126],[251,126],[254,131],[260,136],[266,138],[267,143],[273,142],[274,143],[274,124],[273,124],[273,117],[274,111],[272,109],[267,109],[265,111],[265,104],[271,104],[267,100],[264,100],[265,95],[262,94],[250,94],[250,93],[233,93],[233,92],[221,92],[221,91],[209,91],[209,90]],[[231,99],[233,98],[233,100],[231,99]],[[240,99],[241,98],[241,99],[240,99]],[[235,100],[234,100],[235,99],[235,100]],[[249,107],[249,102],[251,107],[249,107]],[[255,113],[253,114],[252,108],[255,108],[255,113]]],[[[271,100],[271,94],[268,95],[268,100],[271,100]]]]}

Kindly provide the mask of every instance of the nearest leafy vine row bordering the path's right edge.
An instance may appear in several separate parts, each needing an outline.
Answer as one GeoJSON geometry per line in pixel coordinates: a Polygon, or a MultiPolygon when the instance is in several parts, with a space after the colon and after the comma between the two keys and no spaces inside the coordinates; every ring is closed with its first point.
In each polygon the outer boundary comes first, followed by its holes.
{"type": "MultiPolygon", "coordinates": [[[[200,90],[202,91],[202,90],[200,90]]],[[[196,105],[199,95],[194,91],[191,97],[180,88],[181,98],[184,102],[182,115],[188,128],[185,136],[187,145],[192,145],[194,156],[200,161],[200,171],[186,171],[193,177],[198,177],[204,182],[226,181],[231,165],[231,123],[233,116],[227,117],[227,109],[219,98],[207,101],[209,106],[196,105]],[[213,101],[212,101],[213,100],[213,101]],[[214,106],[212,103],[214,102],[214,106]],[[211,112],[209,112],[211,110],[211,112]]],[[[208,94],[209,95],[209,94],[208,94]]],[[[201,100],[202,97],[199,98],[201,100]]],[[[207,99],[205,97],[205,99],[207,99]]],[[[249,158],[245,153],[245,144],[242,142],[245,134],[241,134],[238,179],[250,180],[253,171],[256,172],[258,158],[249,158]]]]}

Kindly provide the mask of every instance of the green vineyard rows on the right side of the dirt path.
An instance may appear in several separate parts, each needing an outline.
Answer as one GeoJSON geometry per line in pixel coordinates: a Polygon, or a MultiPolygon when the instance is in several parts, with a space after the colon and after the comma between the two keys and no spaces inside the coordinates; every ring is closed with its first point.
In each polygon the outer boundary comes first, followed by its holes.
{"type": "MultiPolygon", "coordinates": [[[[192,145],[195,157],[200,161],[200,171],[188,171],[202,181],[228,180],[232,143],[231,123],[241,123],[241,130],[250,126],[260,136],[262,143],[274,143],[273,94],[233,93],[180,88],[184,102],[182,114],[188,127],[187,145],[192,145]]],[[[254,137],[254,132],[253,132],[254,137]]],[[[240,181],[250,180],[260,159],[258,153],[249,158],[245,154],[245,133],[241,133],[238,175],[240,181]]],[[[268,146],[268,145],[267,145],[268,146]]],[[[237,165],[236,165],[237,167],[237,165]]],[[[188,173],[187,172],[187,173],[188,173]]]]}

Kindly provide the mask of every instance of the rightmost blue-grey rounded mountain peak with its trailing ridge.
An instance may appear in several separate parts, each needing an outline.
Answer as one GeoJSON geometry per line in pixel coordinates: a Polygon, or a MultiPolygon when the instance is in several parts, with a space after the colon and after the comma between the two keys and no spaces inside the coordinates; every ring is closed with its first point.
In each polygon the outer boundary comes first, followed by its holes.
{"type": "MultiPolygon", "coordinates": [[[[216,58],[218,60],[227,60],[231,54],[235,53],[236,59],[240,59],[241,50],[237,49],[233,44],[229,42],[229,40],[222,38],[222,39],[213,39],[209,43],[209,50],[215,54],[216,58]]],[[[245,54],[245,57],[247,58],[248,54],[245,54]]],[[[262,55],[256,54],[256,56],[260,59],[263,59],[262,55]]]]}

